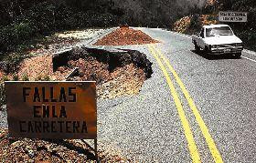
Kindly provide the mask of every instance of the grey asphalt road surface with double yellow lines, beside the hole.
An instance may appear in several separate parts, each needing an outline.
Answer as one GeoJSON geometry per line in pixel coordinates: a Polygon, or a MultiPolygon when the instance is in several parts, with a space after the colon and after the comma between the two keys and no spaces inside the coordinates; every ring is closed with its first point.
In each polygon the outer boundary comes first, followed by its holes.
{"type": "Polygon", "coordinates": [[[255,162],[256,56],[204,56],[189,36],[141,29],[161,43],[120,47],[154,74],[138,96],[98,101],[101,145],[140,162],[255,162]]]}

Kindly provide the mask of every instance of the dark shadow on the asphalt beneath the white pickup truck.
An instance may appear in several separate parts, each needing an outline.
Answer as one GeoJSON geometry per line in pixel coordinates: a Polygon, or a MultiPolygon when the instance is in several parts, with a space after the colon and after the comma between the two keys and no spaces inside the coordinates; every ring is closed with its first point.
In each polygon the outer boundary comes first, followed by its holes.
{"type": "Polygon", "coordinates": [[[203,50],[200,50],[197,52],[196,50],[190,50],[192,53],[202,56],[208,60],[220,60],[220,59],[240,59],[238,56],[234,56],[232,54],[226,54],[226,55],[210,55],[206,54],[203,50]]]}

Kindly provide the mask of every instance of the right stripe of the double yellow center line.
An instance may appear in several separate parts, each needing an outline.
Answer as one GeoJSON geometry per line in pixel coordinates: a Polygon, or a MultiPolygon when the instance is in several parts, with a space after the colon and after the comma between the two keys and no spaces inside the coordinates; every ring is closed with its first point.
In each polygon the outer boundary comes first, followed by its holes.
{"type": "MultiPolygon", "coordinates": [[[[155,48],[155,46],[153,46],[153,48],[155,48]]],[[[211,135],[209,134],[208,131],[208,127],[206,126],[203,118],[200,116],[199,111],[197,110],[197,107],[195,105],[195,102],[193,101],[192,97],[189,95],[187,88],[185,87],[185,85],[183,84],[183,82],[181,81],[180,77],[176,74],[176,70],[174,69],[173,66],[171,66],[171,64],[169,63],[169,61],[166,59],[166,57],[160,52],[159,49],[155,48],[155,51],[158,53],[158,55],[164,60],[165,65],[169,68],[169,70],[171,71],[171,73],[173,74],[173,76],[175,76],[176,78],[176,82],[179,85],[179,87],[181,88],[184,96],[187,99],[188,102],[188,106],[191,108],[194,116],[196,117],[197,120],[197,124],[199,125],[204,138],[206,139],[207,143],[208,143],[208,148],[210,150],[210,153],[212,155],[212,157],[214,158],[215,162],[218,163],[222,163],[223,160],[221,158],[221,155],[219,154],[219,150],[215,145],[215,142],[213,140],[213,138],[211,137],[211,135]]]]}

